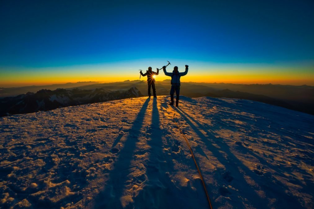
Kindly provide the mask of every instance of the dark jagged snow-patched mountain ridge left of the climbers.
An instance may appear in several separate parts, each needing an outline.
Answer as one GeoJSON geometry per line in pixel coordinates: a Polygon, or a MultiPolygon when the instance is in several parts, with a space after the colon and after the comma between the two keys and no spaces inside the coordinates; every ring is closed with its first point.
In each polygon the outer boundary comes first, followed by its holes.
{"type": "Polygon", "coordinates": [[[111,91],[103,88],[92,90],[58,88],[53,91],[42,89],[35,94],[28,92],[15,97],[0,99],[0,116],[141,96],[143,95],[136,87],[132,87],[127,91],[111,91]]]}

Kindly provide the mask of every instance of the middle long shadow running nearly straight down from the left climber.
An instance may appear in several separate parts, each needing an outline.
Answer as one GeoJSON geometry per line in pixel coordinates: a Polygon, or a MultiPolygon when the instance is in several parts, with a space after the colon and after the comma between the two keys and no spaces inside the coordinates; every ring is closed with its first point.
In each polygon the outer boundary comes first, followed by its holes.
{"type": "MultiPolygon", "coordinates": [[[[195,199],[201,198],[197,194],[191,194],[188,188],[179,190],[171,181],[169,171],[174,170],[171,157],[165,156],[163,151],[162,136],[165,134],[160,128],[160,116],[157,107],[157,99],[153,100],[151,138],[147,141],[149,149],[149,161],[147,163],[147,183],[139,195],[135,198],[135,208],[193,208],[195,199]],[[186,189],[186,190],[185,190],[186,189]],[[191,198],[192,196],[192,198],[191,198]],[[191,199],[192,201],[187,201],[191,199]],[[143,202],[145,202],[143,204],[143,202]],[[139,204],[138,204],[139,203],[139,204]],[[149,203],[149,204],[147,204],[149,203]]],[[[170,145],[168,141],[168,145],[170,145]]],[[[201,201],[201,200],[200,200],[201,201]]],[[[206,206],[206,201],[204,202],[206,206]]]]}

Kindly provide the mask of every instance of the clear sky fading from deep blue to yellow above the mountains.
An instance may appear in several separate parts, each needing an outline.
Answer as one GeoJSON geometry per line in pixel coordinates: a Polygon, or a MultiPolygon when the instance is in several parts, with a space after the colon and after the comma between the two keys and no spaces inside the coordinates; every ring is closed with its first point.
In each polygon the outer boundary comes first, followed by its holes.
{"type": "Polygon", "coordinates": [[[135,78],[165,60],[192,63],[196,80],[276,71],[314,85],[313,11],[313,1],[2,1],[0,86],[135,78]]]}

